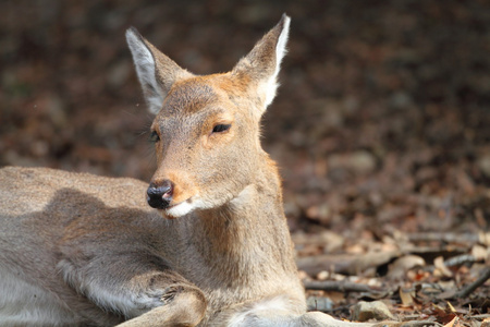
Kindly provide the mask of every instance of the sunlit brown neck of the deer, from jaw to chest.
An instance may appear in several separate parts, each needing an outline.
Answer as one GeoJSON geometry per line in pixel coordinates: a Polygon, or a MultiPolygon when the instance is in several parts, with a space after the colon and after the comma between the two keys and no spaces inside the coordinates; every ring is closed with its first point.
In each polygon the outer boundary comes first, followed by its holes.
{"type": "Polygon", "coordinates": [[[274,166],[258,171],[257,179],[224,206],[198,216],[196,250],[221,282],[248,284],[260,279],[257,276],[267,280],[296,274],[274,166]]]}

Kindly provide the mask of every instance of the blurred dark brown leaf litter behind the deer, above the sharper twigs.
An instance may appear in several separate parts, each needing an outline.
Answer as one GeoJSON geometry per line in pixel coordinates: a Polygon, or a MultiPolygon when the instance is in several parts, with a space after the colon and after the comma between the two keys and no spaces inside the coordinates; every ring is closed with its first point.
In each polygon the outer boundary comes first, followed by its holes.
{"type": "Polygon", "coordinates": [[[488,231],[490,2],[0,1],[0,166],[148,181],[135,26],[197,74],[233,68],[285,12],[264,147],[292,231],[488,231]]]}

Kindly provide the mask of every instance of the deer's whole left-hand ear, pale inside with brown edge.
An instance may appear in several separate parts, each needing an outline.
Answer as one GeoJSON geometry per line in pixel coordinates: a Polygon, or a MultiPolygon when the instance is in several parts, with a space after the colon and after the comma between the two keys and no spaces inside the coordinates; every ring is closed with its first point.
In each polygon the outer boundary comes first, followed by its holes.
{"type": "Polygon", "coordinates": [[[136,28],[131,27],[126,31],[126,40],[148,110],[157,114],[172,85],[192,74],[155,48],[136,28]]]}

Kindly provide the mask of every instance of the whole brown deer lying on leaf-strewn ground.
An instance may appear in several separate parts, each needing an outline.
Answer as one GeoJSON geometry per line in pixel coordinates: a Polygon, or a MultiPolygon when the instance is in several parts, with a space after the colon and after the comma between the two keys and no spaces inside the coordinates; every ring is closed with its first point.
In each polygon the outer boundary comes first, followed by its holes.
{"type": "MultiPolygon", "coordinates": [[[[330,326],[306,312],[275,162],[260,145],[290,17],[228,73],[196,75],[126,32],[149,182],[0,170],[2,326],[330,326]]],[[[340,323],[340,322],[338,322],[340,323]]]]}

